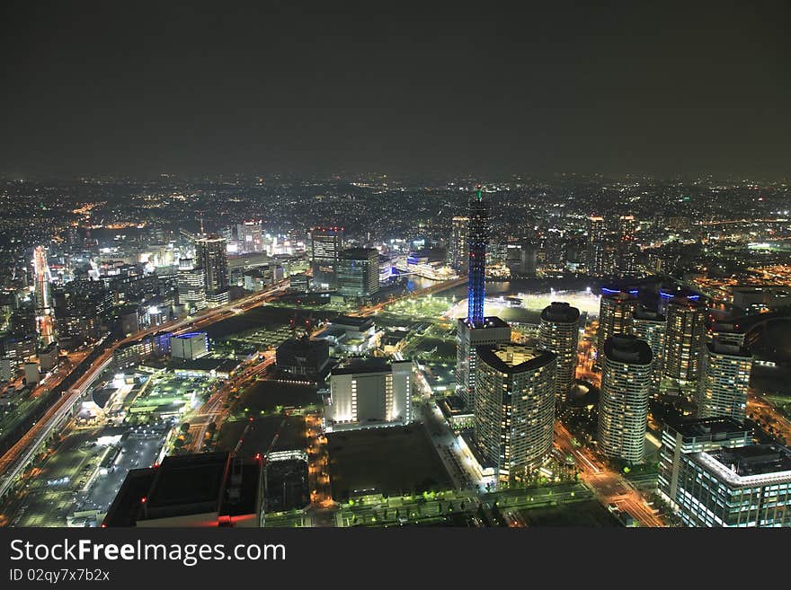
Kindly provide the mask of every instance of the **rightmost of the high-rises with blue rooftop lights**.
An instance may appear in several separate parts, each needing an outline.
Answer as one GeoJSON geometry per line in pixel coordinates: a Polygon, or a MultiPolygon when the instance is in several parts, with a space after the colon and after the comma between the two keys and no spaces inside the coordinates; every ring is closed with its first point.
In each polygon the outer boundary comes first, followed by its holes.
{"type": "Polygon", "coordinates": [[[667,306],[662,376],[680,384],[698,383],[706,333],[706,304],[673,297],[667,306]]]}

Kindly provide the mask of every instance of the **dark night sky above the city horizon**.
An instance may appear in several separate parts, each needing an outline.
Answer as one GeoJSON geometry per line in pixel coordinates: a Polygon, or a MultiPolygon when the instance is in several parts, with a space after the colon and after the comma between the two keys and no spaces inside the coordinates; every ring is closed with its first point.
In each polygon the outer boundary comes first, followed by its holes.
{"type": "Polygon", "coordinates": [[[789,2],[3,10],[4,173],[791,176],[789,2]]]}

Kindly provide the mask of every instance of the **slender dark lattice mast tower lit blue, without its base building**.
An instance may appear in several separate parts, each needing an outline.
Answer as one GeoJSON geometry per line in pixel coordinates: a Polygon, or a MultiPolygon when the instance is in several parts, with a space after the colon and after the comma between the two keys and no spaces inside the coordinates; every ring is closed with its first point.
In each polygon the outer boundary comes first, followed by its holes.
{"type": "Polygon", "coordinates": [[[489,207],[484,201],[484,189],[481,185],[477,186],[469,201],[467,242],[467,320],[478,327],[484,324],[486,246],[489,243],[489,207]]]}

